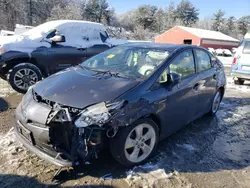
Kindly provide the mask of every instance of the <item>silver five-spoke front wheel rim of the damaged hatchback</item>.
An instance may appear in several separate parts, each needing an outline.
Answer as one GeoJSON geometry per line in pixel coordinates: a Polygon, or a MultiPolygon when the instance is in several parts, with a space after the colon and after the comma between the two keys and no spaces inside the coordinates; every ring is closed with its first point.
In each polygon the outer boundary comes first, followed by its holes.
{"type": "Polygon", "coordinates": [[[125,142],[126,158],[133,163],[146,159],[152,152],[156,142],[155,130],[149,124],[136,126],[125,142]]]}

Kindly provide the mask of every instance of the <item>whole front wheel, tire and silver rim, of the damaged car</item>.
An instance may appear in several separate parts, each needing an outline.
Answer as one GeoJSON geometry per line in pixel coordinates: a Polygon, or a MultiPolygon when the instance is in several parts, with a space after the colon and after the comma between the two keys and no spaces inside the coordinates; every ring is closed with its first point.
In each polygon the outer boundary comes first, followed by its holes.
{"type": "Polygon", "coordinates": [[[120,129],[117,135],[110,139],[110,151],[119,163],[130,168],[144,163],[154,153],[158,141],[157,124],[149,118],[140,119],[132,125],[120,129]],[[140,130],[142,130],[142,136],[136,134],[136,131],[139,133],[140,130]],[[147,135],[149,139],[146,139],[147,135]],[[138,140],[139,138],[141,139],[138,140]]]}

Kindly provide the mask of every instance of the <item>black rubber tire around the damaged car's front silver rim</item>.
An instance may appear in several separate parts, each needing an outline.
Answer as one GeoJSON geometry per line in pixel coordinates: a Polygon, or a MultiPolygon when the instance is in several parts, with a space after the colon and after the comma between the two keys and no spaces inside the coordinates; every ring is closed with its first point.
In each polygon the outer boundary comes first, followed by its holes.
{"type": "Polygon", "coordinates": [[[110,151],[113,155],[113,157],[122,165],[130,168],[139,164],[144,163],[145,161],[147,161],[148,158],[150,158],[152,156],[152,154],[155,152],[155,149],[157,148],[159,142],[159,127],[157,126],[157,124],[151,120],[150,118],[143,118],[143,119],[139,119],[136,122],[134,122],[132,125],[129,125],[127,127],[122,127],[119,129],[117,135],[114,138],[110,139],[110,151]],[[139,163],[133,163],[130,162],[125,155],[125,151],[124,151],[124,147],[125,147],[125,141],[127,136],[129,135],[129,133],[137,126],[140,124],[149,124],[150,126],[152,126],[152,128],[155,130],[156,133],[156,141],[155,141],[155,145],[154,148],[152,150],[152,152],[150,153],[150,155],[142,160],[139,163]]]}

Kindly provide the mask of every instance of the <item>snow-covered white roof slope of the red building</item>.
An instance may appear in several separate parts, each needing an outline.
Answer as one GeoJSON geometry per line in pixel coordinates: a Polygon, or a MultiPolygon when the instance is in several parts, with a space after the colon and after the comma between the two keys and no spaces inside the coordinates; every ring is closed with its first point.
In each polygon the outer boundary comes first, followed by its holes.
{"type": "Polygon", "coordinates": [[[239,40],[230,37],[228,35],[225,35],[219,31],[211,31],[206,29],[198,29],[198,28],[191,28],[191,27],[184,27],[184,26],[177,26],[189,33],[192,33],[193,35],[199,37],[199,38],[205,38],[205,39],[217,39],[217,40],[224,40],[224,41],[235,41],[239,42],[239,40]]]}

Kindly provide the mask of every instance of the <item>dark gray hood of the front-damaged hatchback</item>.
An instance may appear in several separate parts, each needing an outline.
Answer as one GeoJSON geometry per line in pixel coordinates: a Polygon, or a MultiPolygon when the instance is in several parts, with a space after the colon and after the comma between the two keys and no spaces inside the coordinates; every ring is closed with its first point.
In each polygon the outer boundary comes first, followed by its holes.
{"type": "Polygon", "coordinates": [[[137,84],[137,80],[96,75],[78,66],[44,79],[33,90],[44,99],[82,109],[113,100],[137,84]]]}

